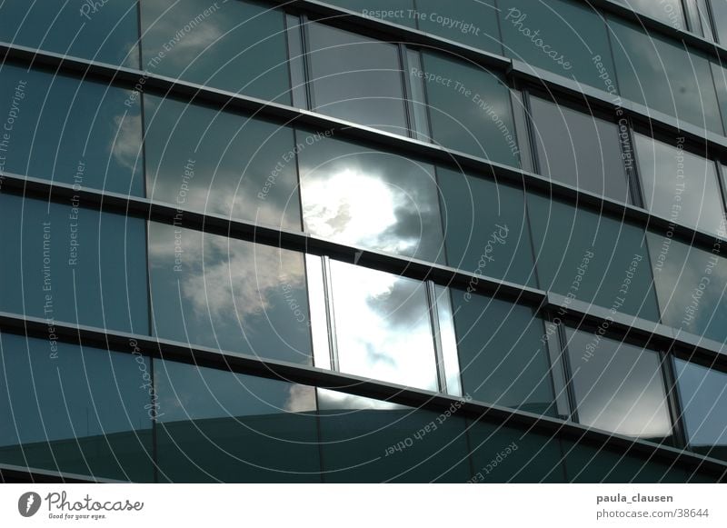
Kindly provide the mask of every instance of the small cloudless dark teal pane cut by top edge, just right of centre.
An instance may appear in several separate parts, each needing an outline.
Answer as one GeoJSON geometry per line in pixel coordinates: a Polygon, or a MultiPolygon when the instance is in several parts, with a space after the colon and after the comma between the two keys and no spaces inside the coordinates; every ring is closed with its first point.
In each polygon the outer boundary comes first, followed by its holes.
{"type": "Polygon", "coordinates": [[[416,8],[423,32],[502,55],[498,9],[493,0],[416,0],[416,8]]]}

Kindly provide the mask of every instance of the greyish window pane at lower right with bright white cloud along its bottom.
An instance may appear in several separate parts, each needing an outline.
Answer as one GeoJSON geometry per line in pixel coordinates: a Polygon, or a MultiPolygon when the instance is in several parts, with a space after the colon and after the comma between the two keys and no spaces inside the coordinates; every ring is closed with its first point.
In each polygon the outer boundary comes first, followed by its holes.
{"type": "Polygon", "coordinates": [[[672,421],[659,354],[565,329],[578,421],[609,433],[670,442],[672,421]]]}

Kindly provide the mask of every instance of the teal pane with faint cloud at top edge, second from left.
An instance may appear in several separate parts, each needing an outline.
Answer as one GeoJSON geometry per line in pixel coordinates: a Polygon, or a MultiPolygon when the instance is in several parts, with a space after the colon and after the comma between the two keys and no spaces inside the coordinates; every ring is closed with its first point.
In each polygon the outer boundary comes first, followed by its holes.
{"type": "Polygon", "coordinates": [[[284,13],[249,0],[142,2],[142,68],[289,105],[284,13]]]}

